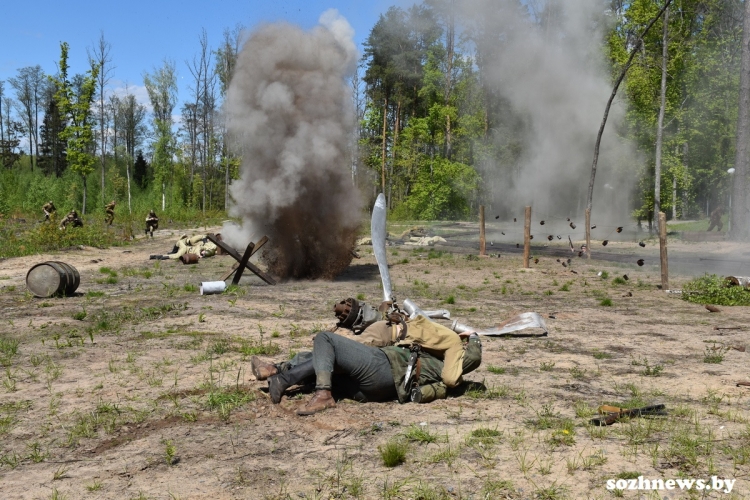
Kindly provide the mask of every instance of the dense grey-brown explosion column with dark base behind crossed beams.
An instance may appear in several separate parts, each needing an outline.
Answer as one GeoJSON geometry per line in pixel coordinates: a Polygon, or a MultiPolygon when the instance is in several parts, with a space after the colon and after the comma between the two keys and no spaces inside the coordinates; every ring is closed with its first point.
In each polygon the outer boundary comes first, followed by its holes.
{"type": "Polygon", "coordinates": [[[309,32],[263,26],[240,52],[227,90],[227,127],[242,158],[229,213],[242,223],[222,234],[237,248],[268,235],[263,257],[282,278],[332,278],[351,261],[361,214],[347,152],[353,33],[335,10],[309,32]]]}

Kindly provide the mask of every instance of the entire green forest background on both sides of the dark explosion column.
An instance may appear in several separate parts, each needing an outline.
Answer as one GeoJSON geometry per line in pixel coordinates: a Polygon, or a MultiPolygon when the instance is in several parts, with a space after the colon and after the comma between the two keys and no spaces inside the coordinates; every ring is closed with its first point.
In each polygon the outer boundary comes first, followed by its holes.
{"type": "MultiPolygon", "coordinates": [[[[575,33],[570,3],[501,3],[497,15],[511,9],[518,22],[493,18],[492,2],[425,0],[391,7],[372,27],[351,79],[358,125],[342,168],[366,197],[386,193],[391,218],[469,219],[479,205],[508,218],[545,203],[560,217],[582,214],[607,95],[573,103],[597,117],[590,130],[573,131],[575,166],[533,171],[529,159],[544,147],[538,131],[530,133],[536,108],[509,96],[512,83],[496,74],[496,63],[518,50],[512,40],[528,37],[527,45],[541,40],[560,54],[583,54],[587,70],[611,89],[663,1],[573,2],[586,9],[575,33]],[[589,42],[583,50],[581,38],[589,42]]],[[[650,220],[661,209],[673,219],[704,218],[730,203],[744,11],[740,0],[676,0],[644,39],[608,124],[613,146],[600,162],[599,184],[613,193],[597,202],[617,198],[618,217],[650,220]]],[[[176,220],[225,217],[240,161],[222,103],[245,37],[240,27],[227,29],[212,47],[208,33],[198,34],[186,62],[190,94],[181,100],[175,63],[145,71],[150,108],[110,91],[116,61],[104,35],[87,49],[84,73],[69,73],[63,42],[56,73],[29,66],[0,81],[0,214],[39,217],[53,200],[61,213],[103,216],[115,199],[118,213],[137,219],[151,208],[176,220]]],[[[558,87],[548,80],[540,92],[555,99],[558,87]]]]}

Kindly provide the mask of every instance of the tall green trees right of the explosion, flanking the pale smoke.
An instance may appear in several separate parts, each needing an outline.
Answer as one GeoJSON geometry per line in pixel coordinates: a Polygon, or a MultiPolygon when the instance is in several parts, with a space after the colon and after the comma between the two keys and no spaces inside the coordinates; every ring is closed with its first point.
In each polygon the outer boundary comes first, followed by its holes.
{"type": "MultiPolygon", "coordinates": [[[[475,213],[493,198],[489,179],[512,178],[533,147],[521,140],[524,116],[486,77],[487,53],[505,50],[502,34],[467,18],[467,3],[391,7],[372,28],[355,78],[361,118],[355,168],[406,218],[475,213]]],[[[598,5],[602,15],[592,22],[607,24],[592,32],[606,34],[597,43],[614,81],[664,1],[598,5]]],[[[562,0],[518,2],[528,25],[547,31],[560,21],[562,6],[562,0]]],[[[625,120],[617,133],[642,158],[625,166],[637,180],[634,218],[651,220],[659,210],[694,218],[727,208],[744,10],[741,0],[675,1],[643,40],[618,96],[625,120]]],[[[605,102],[599,104],[603,111],[605,102]]]]}

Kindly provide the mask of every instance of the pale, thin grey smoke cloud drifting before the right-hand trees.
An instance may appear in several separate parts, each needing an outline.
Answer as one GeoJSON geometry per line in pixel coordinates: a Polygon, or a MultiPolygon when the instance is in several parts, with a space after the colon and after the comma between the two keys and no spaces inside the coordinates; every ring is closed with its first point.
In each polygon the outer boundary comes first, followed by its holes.
{"type": "MultiPolygon", "coordinates": [[[[594,142],[612,91],[602,55],[608,28],[604,4],[536,2],[548,9],[540,15],[542,26],[532,25],[517,0],[462,0],[459,5],[467,25],[488,35],[478,46],[483,77],[517,119],[506,130],[495,130],[497,139],[503,143],[523,130],[525,153],[514,165],[512,181],[510,176],[490,180],[495,199],[514,213],[531,204],[537,213],[582,216],[594,142]]],[[[624,86],[620,95],[623,92],[624,86]]],[[[636,175],[626,172],[634,173],[632,166],[640,163],[633,149],[616,137],[623,115],[616,101],[602,141],[594,193],[600,223],[605,212],[620,223],[628,216],[636,175]],[[604,189],[605,184],[616,189],[604,189]]]]}

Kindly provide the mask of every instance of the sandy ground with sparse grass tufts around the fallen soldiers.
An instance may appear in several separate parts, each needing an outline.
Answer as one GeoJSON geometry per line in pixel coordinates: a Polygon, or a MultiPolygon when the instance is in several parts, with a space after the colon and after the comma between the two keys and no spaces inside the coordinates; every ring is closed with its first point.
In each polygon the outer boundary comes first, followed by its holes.
{"type": "Polygon", "coordinates": [[[399,299],[479,327],[536,311],[549,335],[485,338],[466,377],[484,391],[298,417],[309,396],[271,404],[249,357],[308,349],[338,300],[377,304],[371,249],[333,282],[268,286],[248,273],[201,296],[233,261],[148,260],[177,236],[0,262],[2,498],[750,497],[750,389],[735,385],[750,379],[750,352],[735,349],[750,348],[750,308],[711,314],[658,290],[653,266],[542,258],[524,270],[517,255],[390,247],[399,299]],[[46,260],[79,270],[75,297],[26,291],[26,271],[46,260]],[[663,403],[669,415],[588,425],[602,403],[663,403]],[[406,443],[405,460],[386,467],[393,443],[406,443]],[[731,494],[607,490],[639,475],[736,483],[731,494]]]}

